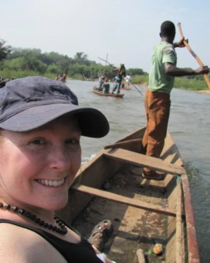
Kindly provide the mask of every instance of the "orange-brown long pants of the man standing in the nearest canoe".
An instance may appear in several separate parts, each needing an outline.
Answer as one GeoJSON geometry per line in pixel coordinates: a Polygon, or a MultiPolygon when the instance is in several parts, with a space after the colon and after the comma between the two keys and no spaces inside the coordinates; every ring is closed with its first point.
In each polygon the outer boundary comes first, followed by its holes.
{"type": "MultiPolygon", "coordinates": [[[[170,113],[170,95],[164,92],[152,92],[147,89],[145,94],[145,110],[147,127],[142,140],[143,147],[147,146],[146,155],[160,157],[166,137],[168,119],[170,113]]],[[[149,174],[154,174],[154,170],[144,168],[149,174]]]]}

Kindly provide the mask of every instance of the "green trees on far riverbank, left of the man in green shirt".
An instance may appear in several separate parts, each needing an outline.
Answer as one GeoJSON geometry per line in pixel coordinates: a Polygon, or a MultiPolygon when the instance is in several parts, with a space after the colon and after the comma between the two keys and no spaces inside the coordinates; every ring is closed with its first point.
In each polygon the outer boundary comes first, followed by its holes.
{"type": "MultiPolygon", "coordinates": [[[[115,76],[109,65],[89,60],[84,52],[68,57],[54,51],[43,53],[37,48],[14,48],[5,44],[4,40],[0,40],[0,70],[33,71],[39,74],[66,73],[70,78],[86,79],[96,79],[101,75],[107,78],[115,76]]],[[[131,75],[147,74],[141,68],[129,68],[126,72],[131,75]]]]}

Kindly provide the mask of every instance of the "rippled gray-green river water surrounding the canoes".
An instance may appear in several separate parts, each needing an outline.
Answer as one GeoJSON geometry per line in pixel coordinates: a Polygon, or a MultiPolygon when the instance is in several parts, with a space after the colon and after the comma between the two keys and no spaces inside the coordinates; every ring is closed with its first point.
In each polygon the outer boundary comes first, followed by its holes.
{"type": "MultiPolygon", "coordinates": [[[[92,158],[103,146],[145,126],[144,97],[131,86],[122,90],[123,99],[92,93],[96,82],[67,80],[80,106],[94,107],[106,115],[110,132],[106,137],[82,137],[82,162],[92,158]]],[[[112,88],[111,83],[111,88],[112,88]]],[[[138,89],[144,94],[144,86],[138,89]]],[[[176,142],[189,176],[201,262],[210,262],[210,94],[172,89],[168,129],[176,142]]]]}

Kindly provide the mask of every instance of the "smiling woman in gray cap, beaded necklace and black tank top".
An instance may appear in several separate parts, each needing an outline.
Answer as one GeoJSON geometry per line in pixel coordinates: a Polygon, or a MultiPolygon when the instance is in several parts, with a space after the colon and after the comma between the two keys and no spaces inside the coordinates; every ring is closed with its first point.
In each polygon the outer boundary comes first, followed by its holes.
{"type": "Polygon", "coordinates": [[[81,135],[105,136],[106,117],[64,83],[27,77],[0,90],[0,128],[0,261],[102,262],[54,211],[80,168],[81,135]]]}

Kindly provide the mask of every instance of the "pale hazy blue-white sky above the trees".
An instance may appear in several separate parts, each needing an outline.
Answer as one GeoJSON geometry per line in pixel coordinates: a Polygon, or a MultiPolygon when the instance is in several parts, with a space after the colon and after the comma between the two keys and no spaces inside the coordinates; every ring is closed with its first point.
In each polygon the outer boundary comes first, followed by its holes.
{"type": "MultiPolygon", "coordinates": [[[[0,10],[0,38],[8,45],[69,57],[85,52],[97,63],[108,53],[115,66],[146,72],[160,24],[174,22],[178,41],[180,22],[192,50],[210,66],[209,0],[1,0],[0,10]]],[[[178,67],[199,67],[186,48],[176,51],[178,67]]]]}

